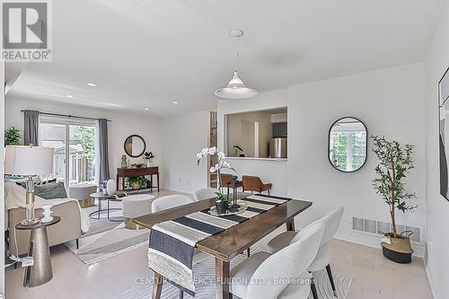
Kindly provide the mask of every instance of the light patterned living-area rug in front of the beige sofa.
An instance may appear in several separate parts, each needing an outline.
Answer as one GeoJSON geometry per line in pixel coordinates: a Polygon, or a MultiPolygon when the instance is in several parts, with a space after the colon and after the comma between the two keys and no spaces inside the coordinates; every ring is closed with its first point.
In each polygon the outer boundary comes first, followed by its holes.
{"type": "Polygon", "coordinates": [[[104,233],[95,233],[81,238],[79,250],[76,250],[75,242],[66,242],[66,247],[84,264],[91,265],[120,253],[148,246],[149,230],[128,230],[123,223],[114,225],[112,229],[104,233]]]}

